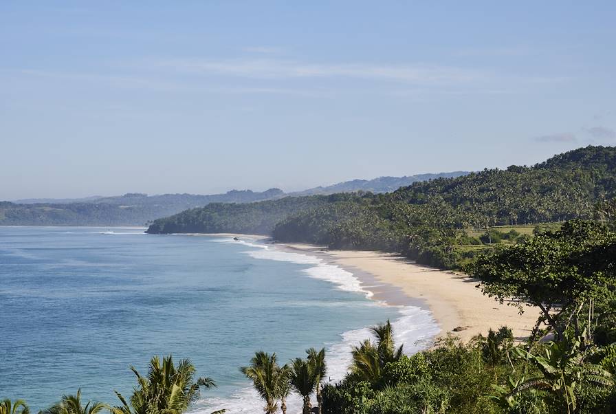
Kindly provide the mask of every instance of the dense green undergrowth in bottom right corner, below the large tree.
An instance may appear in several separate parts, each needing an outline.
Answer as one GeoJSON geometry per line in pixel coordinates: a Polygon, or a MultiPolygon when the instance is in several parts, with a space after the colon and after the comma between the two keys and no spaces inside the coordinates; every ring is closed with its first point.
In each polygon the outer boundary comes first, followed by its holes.
{"type": "MultiPolygon", "coordinates": [[[[506,328],[504,328],[507,330],[506,328]]],[[[325,414],[613,413],[613,373],[593,363],[567,335],[530,351],[513,338],[498,344],[479,336],[469,344],[452,337],[434,349],[403,355],[365,381],[348,375],[323,390],[325,414]],[[494,359],[488,349],[498,350],[494,359]]]]}

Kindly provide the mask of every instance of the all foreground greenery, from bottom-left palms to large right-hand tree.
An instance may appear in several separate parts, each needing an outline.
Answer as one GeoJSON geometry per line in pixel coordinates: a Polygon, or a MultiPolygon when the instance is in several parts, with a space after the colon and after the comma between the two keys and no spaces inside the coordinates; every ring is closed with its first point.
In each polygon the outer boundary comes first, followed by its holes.
{"type": "MultiPolygon", "coordinates": [[[[305,358],[283,366],[275,353],[259,351],[241,372],[272,414],[278,408],[286,413],[292,391],[302,396],[305,414],[313,395],[323,414],[613,413],[616,223],[610,219],[606,224],[575,219],[554,230],[533,230],[532,237],[527,230],[514,238],[517,243],[487,248],[465,266],[495,300],[513,300],[520,312],[524,305],[542,311],[525,342],[516,343],[511,329],[500,327],[466,344],[450,335],[406,356],[387,321],[372,328],[373,340],[351,349],[349,373],[336,384],[323,384],[324,349],[308,349],[305,358]]],[[[120,406],[83,406],[78,391],[45,413],[96,414],[107,408],[111,414],[182,414],[199,386],[214,386],[209,378],[195,382],[195,367],[188,360],[175,366],[170,356],[162,362],[153,358],[146,377],[132,370],[137,386],[130,400],[118,394],[120,406]]],[[[0,414],[28,414],[28,408],[21,400],[4,400],[0,414]]]]}

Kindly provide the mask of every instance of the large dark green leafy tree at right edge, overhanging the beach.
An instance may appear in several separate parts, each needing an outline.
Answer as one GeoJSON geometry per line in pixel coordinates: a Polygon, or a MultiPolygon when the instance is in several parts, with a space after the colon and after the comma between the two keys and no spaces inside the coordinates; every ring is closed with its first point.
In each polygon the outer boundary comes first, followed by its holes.
{"type": "Polygon", "coordinates": [[[541,309],[538,326],[545,323],[562,338],[584,303],[613,291],[615,248],[616,233],[608,227],[574,220],[557,232],[481,254],[465,270],[481,279],[484,294],[511,301],[520,312],[523,303],[541,309]]]}

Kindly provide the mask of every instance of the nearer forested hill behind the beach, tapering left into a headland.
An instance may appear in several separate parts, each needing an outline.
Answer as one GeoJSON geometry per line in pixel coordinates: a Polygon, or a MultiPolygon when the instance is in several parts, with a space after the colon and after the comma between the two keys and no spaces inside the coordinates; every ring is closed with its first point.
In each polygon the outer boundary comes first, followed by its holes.
{"type": "Polygon", "coordinates": [[[281,241],[403,252],[451,267],[460,229],[593,218],[616,195],[616,148],[587,146],[535,166],[432,179],[393,193],[285,197],[245,206],[210,205],[148,232],[271,232],[281,241]]]}

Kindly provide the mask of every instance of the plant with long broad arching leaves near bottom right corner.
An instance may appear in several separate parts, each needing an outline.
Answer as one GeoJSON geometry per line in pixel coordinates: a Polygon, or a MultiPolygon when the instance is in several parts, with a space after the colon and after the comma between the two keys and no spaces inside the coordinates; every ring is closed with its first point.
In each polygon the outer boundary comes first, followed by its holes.
{"type": "Polygon", "coordinates": [[[544,389],[559,397],[566,407],[566,412],[572,413],[577,407],[576,386],[581,382],[592,382],[603,387],[614,385],[613,375],[603,367],[584,363],[579,339],[570,342],[565,338],[560,342],[550,342],[544,349],[544,356],[533,355],[519,347],[514,348],[514,351],[534,364],[542,376],[518,384],[510,395],[527,389],[544,389]]]}

